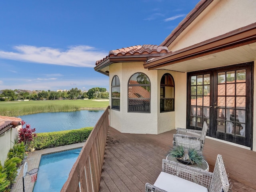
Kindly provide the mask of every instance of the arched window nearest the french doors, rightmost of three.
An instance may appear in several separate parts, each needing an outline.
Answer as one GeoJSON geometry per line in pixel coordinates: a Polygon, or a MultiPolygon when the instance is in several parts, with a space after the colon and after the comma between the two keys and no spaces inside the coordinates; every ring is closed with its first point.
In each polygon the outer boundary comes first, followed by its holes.
{"type": "Polygon", "coordinates": [[[174,111],[174,80],[166,73],[160,82],[160,112],[174,111]]]}

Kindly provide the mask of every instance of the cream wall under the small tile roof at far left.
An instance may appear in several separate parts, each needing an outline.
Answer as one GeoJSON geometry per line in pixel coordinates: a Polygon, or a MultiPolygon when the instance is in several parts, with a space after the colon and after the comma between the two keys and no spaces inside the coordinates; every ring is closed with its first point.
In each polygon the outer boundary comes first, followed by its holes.
{"type": "Polygon", "coordinates": [[[2,165],[4,165],[9,150],[13,147],[14,140],[18,138],[18,129],[21,127],[20,125],[16,128],[10,128],[0,135],[0,161],[2,165]]]}

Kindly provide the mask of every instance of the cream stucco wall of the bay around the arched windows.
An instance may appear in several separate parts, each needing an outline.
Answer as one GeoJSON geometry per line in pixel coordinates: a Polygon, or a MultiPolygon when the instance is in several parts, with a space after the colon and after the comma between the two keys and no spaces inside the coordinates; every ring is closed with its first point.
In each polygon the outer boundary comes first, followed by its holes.
{"type": "Polygon", "coordinates": [[[114,75],[120,79],[120,111],[110,109],[110,126],[120,132],[137,134],[160,134],[175,129],[176,122],[179,127],[186,127],[186,102],[183,100],[186,100],[186,80],[182,79],[186,78],[185,73],[147,70],[144,69],[142,62],[112,64],[110,66],[110,88],[114,75]],[[150,79],[150,113],[128,112],[128,80],[136,72],[143,72],[150,79]],[[160,113],[160,80],[165,73],[170,73],[174,78],[175,111],[160,113]],[[177,81],[176,76],[178,77],[177,81]],[[177,112],[182,115],[176,115],[177,112]]]}

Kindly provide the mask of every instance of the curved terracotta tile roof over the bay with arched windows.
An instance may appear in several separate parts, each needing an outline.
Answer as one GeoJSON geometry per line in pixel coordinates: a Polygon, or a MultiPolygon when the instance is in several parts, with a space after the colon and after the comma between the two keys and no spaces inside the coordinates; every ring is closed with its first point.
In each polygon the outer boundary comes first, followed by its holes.
{"type": "Polygon", "coordinates": [[[96,61],[95,65],[99,65],[100,63],[104,62],[106,59],[110,57],[137,57],[137,56],[154,56],[154,54],[166,54],[168,53],[168,48],[165,46],[158,46],[158,45],[136,45],[116,50],[111,50],[105,58],[96,61]]]}

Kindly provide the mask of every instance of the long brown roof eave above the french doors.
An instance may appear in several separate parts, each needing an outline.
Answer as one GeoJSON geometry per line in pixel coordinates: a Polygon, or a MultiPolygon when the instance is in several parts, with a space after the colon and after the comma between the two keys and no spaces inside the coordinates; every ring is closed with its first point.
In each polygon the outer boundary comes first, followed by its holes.
{"type": "Polygon", "coordinates": [[[145,63],[144,68],[157,69],[253,42],[256,42],[256,23],[156,58],[145,63]]]}

